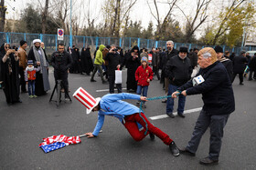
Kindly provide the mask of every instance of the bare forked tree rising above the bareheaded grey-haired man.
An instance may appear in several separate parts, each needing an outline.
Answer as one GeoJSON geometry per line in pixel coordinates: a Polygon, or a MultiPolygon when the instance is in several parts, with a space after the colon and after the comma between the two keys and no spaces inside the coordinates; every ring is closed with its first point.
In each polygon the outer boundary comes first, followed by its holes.
{"type": "Polygon", "coordinates": [[[167,14],[165,15],[164,19],[162,20],[160,15],[159,15],[159,9],[158,9],[156,0],[154,0],[155,13],[156,14],[153,13],[153,10],[151,9],[151,6],[149,5],[150,3],[147,0],[147,5],[150,9],[150,13],[151,13],[151,15],[153,15],[153,17],[155,18],[155,20],[157,22],[156,33],[155,33],[156,40],[158,40],[161,37],[161,35],[165,32],[166,25],[168,24],[168,18],[171,15],[177,1],[178,0],[171,0],[171,1],[168,1],[168,2],[165,3],[165,4],[169,5],[169,10],[168,10],[167,14]]]}

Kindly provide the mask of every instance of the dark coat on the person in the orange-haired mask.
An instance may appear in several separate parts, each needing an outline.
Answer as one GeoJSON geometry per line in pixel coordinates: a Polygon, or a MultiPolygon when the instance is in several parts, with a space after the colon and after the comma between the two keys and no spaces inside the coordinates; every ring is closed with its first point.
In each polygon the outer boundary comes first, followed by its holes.
{"type": "Polygon", "coordinates": [[[205,79],[202,84],[193,86],[192,80],[189,80],[177,90],[186,90],[187,95],[202,94],[203,110],[208,115],[231,114],[235,110],[235,99],[225,66],[217,61],[207,68],[201,68],[198,75],[205,79]]]}

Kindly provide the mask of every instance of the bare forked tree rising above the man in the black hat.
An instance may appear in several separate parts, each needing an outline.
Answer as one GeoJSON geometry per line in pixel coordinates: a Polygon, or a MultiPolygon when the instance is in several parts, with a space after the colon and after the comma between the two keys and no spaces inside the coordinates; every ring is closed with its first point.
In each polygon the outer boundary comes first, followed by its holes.
{"type": "Polygon", "coordinates": [[[206,19],[208,18],[208,5],[211,2],[211,0],[197,0],[197,8],[196,8],[196,14],[194,17],[191,17],[191,15],[186,15],[184,10],[182,10],[178,5],[178,9],[182,12],[182,14],[187,19],[187,27],[186,27],[186,42],[191,43],[192,37],[197,30],[197,28],[202,25],[206,19]]]}

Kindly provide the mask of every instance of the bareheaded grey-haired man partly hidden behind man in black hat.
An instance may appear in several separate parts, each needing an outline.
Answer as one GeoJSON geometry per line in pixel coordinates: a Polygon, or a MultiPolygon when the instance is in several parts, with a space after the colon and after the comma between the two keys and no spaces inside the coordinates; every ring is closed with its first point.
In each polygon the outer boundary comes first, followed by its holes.
{"type": "MultiPolygon", "coordinates": [[[[165,95],[168,94],[168,86],[169,86],[169,77],[165,75],[165,65],[169,61],[169,59],[178,54],[178,51],[174,48],[174,42],[169,40],[166,42],[167,51],[165,51],[165,55],[162,55],[162,73],[161,78],[165,77],[164,85],[165,85],[165,95]]],[[[163,103],[166,103],[167,99],[162,100],[163,103]]]]}

